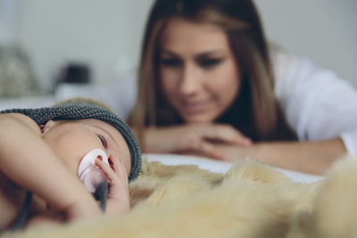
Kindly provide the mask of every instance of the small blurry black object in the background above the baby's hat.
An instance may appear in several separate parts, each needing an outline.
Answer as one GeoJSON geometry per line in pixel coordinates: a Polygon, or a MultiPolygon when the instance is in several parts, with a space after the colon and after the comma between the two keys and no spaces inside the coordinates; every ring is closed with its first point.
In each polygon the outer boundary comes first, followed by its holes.
{"type": "Polygon", "coordinates": [[[60,83],[88,84],[91,82],[90,69],[86,64],[69,63],[59,78],[60,83]]]}

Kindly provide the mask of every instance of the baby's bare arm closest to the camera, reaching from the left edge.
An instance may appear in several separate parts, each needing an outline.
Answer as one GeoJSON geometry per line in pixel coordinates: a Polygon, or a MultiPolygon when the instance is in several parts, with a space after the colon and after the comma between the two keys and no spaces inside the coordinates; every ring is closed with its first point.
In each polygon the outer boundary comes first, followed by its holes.
{"type": "Polygon", "coordinates": [[[21,114],[0,114],[0,131],[0,171],[5,176],[67,219],[101,214],[86,187],[43,141],[35,121],[21,114]]]}

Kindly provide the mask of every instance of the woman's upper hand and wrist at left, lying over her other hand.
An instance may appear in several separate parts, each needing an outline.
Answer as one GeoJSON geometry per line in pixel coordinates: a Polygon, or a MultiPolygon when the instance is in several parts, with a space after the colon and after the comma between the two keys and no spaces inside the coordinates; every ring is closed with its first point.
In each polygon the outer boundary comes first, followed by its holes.
{"type": "Polygon", "coordinates": [[[217,144],[249,146],[252,141],[236,128],[223,124],[191,124],[177,127],[157,127],[145,130],[145,152],[194,153],[226,159],[217,144]]]}

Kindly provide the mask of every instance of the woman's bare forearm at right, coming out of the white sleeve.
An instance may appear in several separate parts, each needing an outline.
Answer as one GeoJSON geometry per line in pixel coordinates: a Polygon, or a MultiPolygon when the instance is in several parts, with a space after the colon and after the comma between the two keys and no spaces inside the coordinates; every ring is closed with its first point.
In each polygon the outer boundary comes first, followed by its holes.
{"type": "MultiPolygon", "coordinates": [[[[341,158],[346,149],[343,141],[335,138],[317,142],[258,143],[237,148],[236,152],[278,168],[320,175],[341,158]]],[[[237,160],[237,154],[228,152],[228,160],[237,160]]]]}

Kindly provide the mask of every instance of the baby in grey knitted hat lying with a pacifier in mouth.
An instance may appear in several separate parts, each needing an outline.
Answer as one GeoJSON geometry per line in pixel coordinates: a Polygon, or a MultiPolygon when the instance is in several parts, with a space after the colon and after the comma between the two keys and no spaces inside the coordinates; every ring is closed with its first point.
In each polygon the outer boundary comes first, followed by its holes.
{"type": "Polygon", "coordinates": [[[128,183],[139,174],[140,148],[125,122],[101,104],[80,99],[0,111],[0,135],[0,230],[13,226],[29,194],[27,225],[102,216],[88,190],[103,177],[105,214],[129,209],[128,183]]]}

